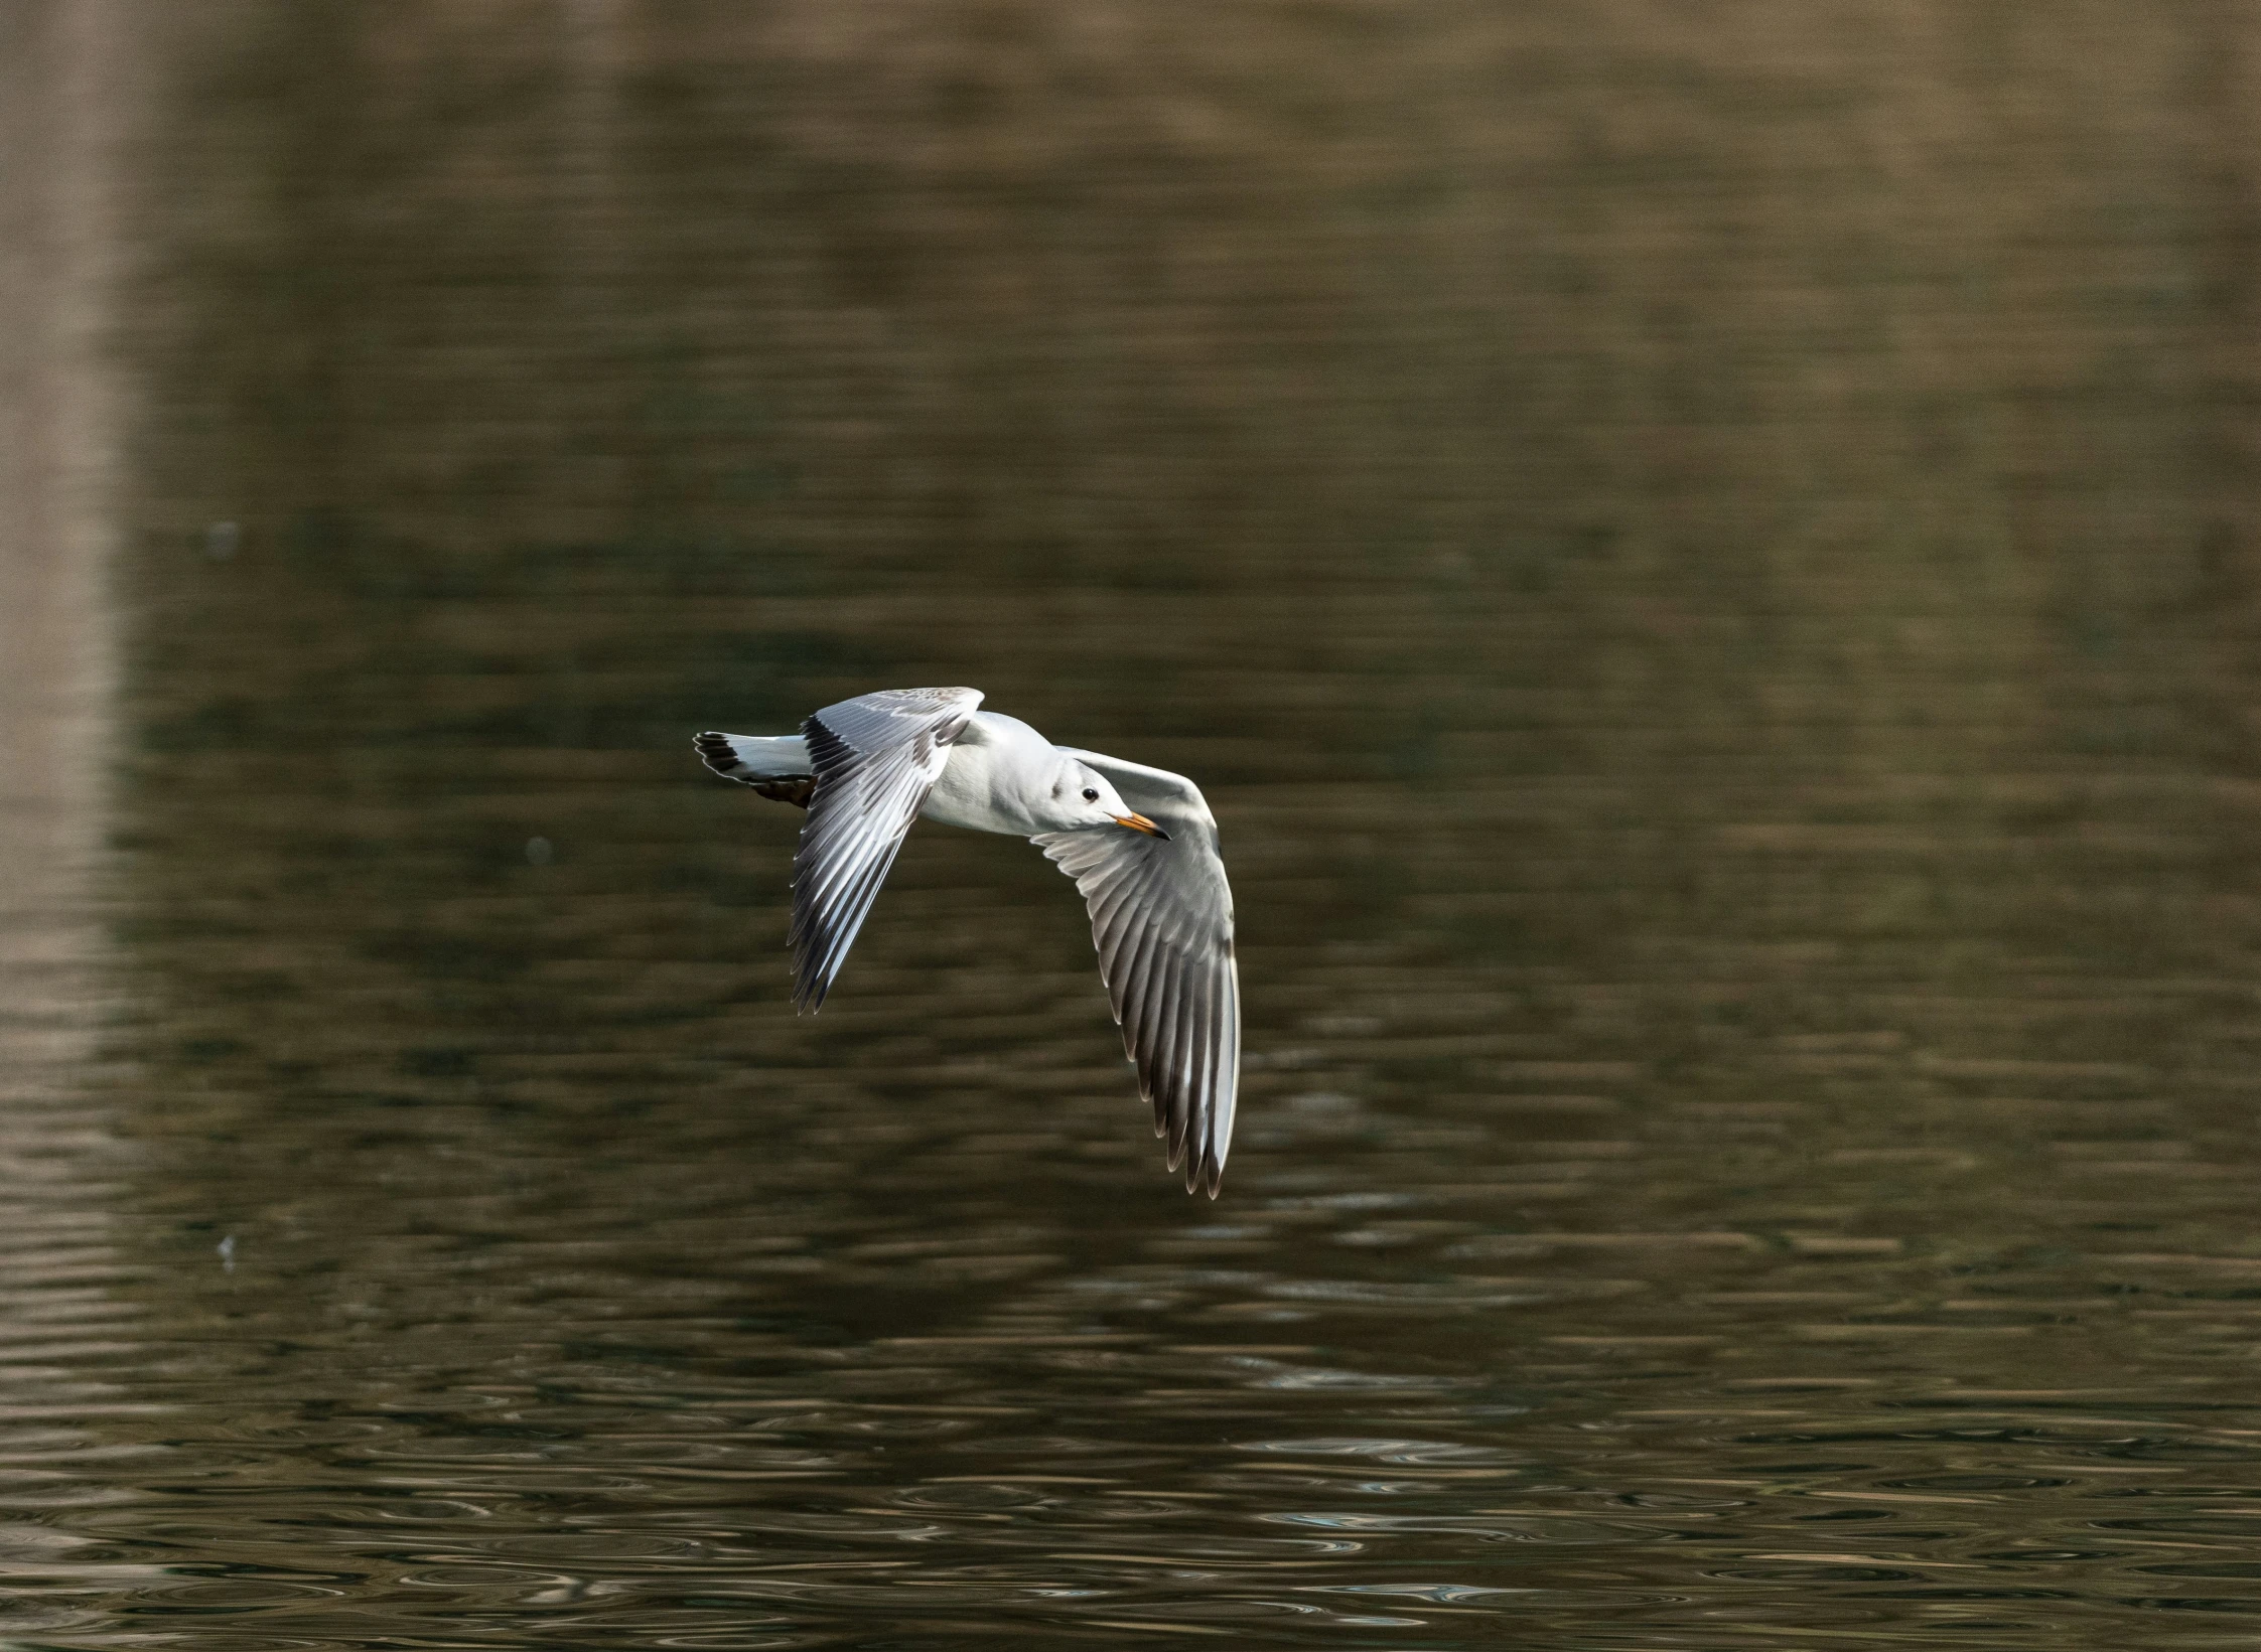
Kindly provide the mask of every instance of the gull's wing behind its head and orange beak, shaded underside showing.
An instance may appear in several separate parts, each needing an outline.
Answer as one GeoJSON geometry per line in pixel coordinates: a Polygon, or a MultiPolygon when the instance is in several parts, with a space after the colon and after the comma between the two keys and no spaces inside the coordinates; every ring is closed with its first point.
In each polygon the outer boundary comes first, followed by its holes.
{"type": "Polygon", "coordinates": [[[1241,1076],[1241,979],[1232,960],[1232,886],[1216,820],[1185,775],[1067,750],[1115,782],[1169,838],[1144,832],[1045,832],[1031,843],[1076,879],[1124,1051],[1169,1139],[1185,1191],[1216,1198],[1241,1076]]]}

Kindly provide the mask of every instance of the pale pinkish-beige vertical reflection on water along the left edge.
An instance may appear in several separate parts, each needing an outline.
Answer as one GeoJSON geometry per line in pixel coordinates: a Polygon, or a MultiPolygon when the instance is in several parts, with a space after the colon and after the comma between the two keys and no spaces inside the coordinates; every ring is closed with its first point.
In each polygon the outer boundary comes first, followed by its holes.
{"type": "Polygon", "coordinates": [[[170,1406],[120,1234],[138,1166],[102,1098],[99,868],[113,615],[122,86],[104,7],[0,16],[0,1636],[68,1636],[163,1575],[86,1530],[136,1501],[170,1406]],[[41,165],[23,165],[38,154],[41,165]],[[161,1424],[156,1424],[161,1426],[161,1424]]]}

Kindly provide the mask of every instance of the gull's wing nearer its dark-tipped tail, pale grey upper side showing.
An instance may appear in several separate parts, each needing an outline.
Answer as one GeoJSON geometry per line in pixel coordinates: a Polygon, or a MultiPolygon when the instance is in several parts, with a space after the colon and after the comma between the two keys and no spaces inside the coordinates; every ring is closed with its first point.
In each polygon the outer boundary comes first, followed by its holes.
{"type": "Polygon", "coordinates": [[[828,705],[800,725],[816,795],[794,852],[796,1008],[823,1006],[977,705],[977,689],[880,689],[828,705]]]}

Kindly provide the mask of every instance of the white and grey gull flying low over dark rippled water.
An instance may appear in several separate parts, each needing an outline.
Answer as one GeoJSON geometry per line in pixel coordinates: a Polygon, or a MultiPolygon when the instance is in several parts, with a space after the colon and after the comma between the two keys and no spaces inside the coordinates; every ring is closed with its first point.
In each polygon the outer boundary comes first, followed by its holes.
{"type": "Polygon", "coordinates": [[[1185,775],[1054,746],[979,705],[979,689],[880,689],[798,734],[692,739],[717,775],[809,814],[794,852],[794,1008],[823,1006],[911,820],[1024,836],[1083,893],[1169,1168],[1216,1198],[1241,1071],[1216,818],[1185,775]]]}

